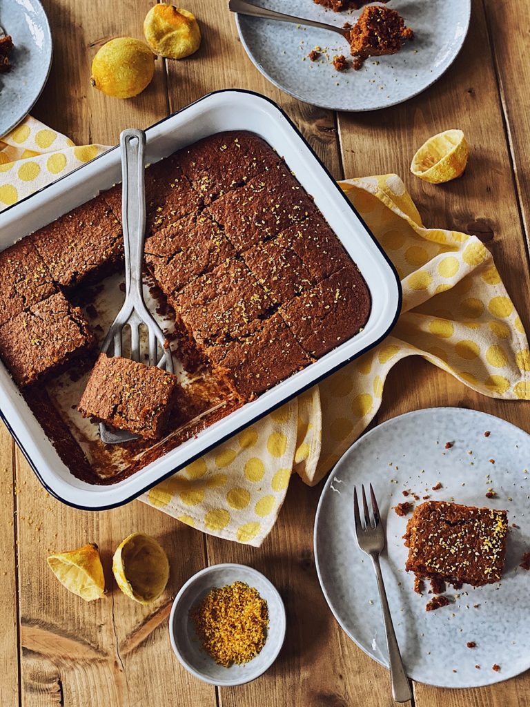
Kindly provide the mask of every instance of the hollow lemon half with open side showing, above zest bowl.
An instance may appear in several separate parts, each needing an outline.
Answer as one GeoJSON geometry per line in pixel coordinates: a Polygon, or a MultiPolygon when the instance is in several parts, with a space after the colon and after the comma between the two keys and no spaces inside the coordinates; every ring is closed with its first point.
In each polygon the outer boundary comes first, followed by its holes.
{"type": "Polygon", "coordinates": [[[154,537],[134,532],[114,552],[112,572],[124,594],[136,602],[148,604],[165,590],[170,563],[154,537]]]}

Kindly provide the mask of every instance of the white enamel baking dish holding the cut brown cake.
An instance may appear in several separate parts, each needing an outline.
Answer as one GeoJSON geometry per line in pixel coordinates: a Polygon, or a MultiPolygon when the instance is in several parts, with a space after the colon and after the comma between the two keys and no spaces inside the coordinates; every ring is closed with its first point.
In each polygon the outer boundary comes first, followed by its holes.
{"type": "MultiPolygon", "coordinates": [[[[396,321],[401,309],[401,288],[393,267],[324,165],[271,100],[246,90],[222,90],[206,95],[147,130],[147,160],[156,162],[205,136],[236,129],[261,135],[285,158],[298,180],[312,194],[367,281],[372,294],[370,319],[363,332],[316,363],[111,486],[88,484],[69,472],[0,363],[0,414],[47,491],[70,506],[103,510],[131,501],[206,450],[375,346],[396,321]]],[[[119,150],[112,148],[0,214],[0,250],[119,181],[119,150]]]]}

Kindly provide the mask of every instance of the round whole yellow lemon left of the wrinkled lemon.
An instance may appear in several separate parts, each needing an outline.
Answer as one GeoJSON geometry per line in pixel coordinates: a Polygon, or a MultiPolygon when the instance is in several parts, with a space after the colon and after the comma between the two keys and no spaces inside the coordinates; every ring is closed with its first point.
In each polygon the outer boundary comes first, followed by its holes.
{"type": "Polygon", "coordinates": [[[154,71],[155,55],[146,42],[117,37],[95,55],[90,83],[114,98],[132,98],[149,86],[154,71]]]}

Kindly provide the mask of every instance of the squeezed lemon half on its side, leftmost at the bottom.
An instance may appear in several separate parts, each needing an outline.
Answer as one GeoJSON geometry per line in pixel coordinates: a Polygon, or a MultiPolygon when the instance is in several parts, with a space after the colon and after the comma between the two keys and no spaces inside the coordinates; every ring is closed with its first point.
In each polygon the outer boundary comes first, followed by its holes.
{"type": "Polygon", "coordinates": [[[59,582],[86,602],[105,595],[105,577],[95,543],[50,555],[47,561],[59,582]]]}

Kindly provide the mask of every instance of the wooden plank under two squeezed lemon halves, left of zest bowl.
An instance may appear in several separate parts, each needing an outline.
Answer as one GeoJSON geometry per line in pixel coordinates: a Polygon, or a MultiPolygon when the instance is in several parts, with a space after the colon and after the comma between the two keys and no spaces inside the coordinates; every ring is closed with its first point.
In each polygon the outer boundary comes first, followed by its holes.
{"type": "Polygon", "coordinates": [[[215,705],[214,689],[190,681],[177,662],[167,631],[172,599],[204,566],[201,534],[138,501],[105,513],[69,508],[47,495],[20,453],[16,467],[23,706],[215,705]],[[134,531],[158,538],[170,559],[167,589],[148,607],[123,595],[110,571],[114,550],[134,531]],[[66,591],[46,563],[52,551],[86,542],[99,544],[108,590],[90,603],[66,591]]]}

